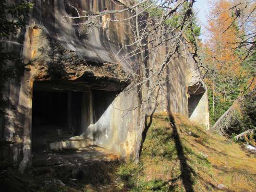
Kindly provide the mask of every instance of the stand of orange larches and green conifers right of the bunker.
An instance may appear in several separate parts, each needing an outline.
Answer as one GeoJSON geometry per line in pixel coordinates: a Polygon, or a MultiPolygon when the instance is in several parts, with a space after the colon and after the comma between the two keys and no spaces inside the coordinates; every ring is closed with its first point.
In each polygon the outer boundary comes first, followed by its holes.
{"type": "Polygon", "coordinates": [[[256,1],[214,0],[207,21],[205,63],[210,121],[222,135],[256,144],[256,1]],[[249,135],[249,138],[246,136],[249,135]]]}

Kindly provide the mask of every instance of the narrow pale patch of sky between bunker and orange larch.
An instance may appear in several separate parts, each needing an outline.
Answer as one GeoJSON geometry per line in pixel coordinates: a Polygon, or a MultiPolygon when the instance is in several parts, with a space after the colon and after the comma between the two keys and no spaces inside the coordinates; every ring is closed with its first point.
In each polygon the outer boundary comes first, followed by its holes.
{"type": "Polygon", "coordinates": [[[196,0],[195,11],[197,12],[196,16],[197,16],[198,22],[201,25],[200,38],[202,38],[204,41],[207,36],[206,29],[204,27],[207,24],[207,13],[208,13],[207,0],[196,0]]]}

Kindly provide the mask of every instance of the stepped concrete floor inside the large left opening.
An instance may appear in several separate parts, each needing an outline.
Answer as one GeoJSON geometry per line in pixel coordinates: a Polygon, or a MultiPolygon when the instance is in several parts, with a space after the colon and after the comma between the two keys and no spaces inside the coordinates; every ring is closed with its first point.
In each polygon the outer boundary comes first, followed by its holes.
{"type": "Polygon", "coordinates": [[[118,159],[110,150],[93,145],[83,136],[74,136],[60,126],[35,126],[32,134],[33,167],[80,167],[118,159]]]}

